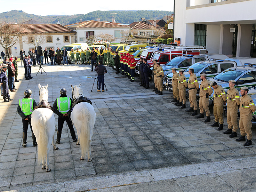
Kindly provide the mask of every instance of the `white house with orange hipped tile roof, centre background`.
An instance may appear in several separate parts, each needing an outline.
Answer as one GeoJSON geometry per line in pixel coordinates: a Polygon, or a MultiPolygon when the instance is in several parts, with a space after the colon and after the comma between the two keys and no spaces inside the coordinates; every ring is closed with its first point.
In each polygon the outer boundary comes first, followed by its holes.
{"type": "Polygon", "coordinates": [[[116,37],[117,38],[116,42],[112,42],[112,43],[118,43],[123,38],[121,31],[130,31],[130,27],[124,24],[94,21],[94,20],[74,23],[74,24],[66,25],[65,27],[76,31],[76,41],[78,43],[85,42],[85,40],[92,35],[97,38],[100,35],[100,33],[103,33],[103,34],[108,33],[109,35],[116,37]]]}

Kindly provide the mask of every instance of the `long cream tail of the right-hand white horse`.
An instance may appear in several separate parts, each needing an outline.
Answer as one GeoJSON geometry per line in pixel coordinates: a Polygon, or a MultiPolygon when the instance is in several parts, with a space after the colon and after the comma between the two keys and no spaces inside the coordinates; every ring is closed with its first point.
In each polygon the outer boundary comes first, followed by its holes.
{"type": "Polygon", "coordinates": [[[90,118],[91,115],[88,108],[83,107],[81,109],[81,115],[78,117],[78,120],[82,122],[80,131],[80,148],[81,153],[84,155],[89,151],[90,146],[90,118]]]}

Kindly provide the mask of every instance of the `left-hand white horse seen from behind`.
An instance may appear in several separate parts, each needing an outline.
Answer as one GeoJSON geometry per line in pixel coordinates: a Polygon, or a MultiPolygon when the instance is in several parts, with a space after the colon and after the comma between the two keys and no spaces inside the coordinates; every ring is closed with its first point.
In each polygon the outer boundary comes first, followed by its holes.
{"type": "MultiPolygon", "coordinates": [[[[43,100],[45,100],[48,103],[48,85],[41,86],[40,84],[38,84],[38,87],[40,99],[39,103],[43,100]]],[[[46,169],[47,172],[50,172],[51,169],[49,167],[48,155],[50,151],[51,142],[54,150],[59,149],[56,147],[54,143],[54,113],[49,108],[35,109],[31,115],[31,125],[38,144],[38,163],[42,160],[42,169],[46,169]]]]}

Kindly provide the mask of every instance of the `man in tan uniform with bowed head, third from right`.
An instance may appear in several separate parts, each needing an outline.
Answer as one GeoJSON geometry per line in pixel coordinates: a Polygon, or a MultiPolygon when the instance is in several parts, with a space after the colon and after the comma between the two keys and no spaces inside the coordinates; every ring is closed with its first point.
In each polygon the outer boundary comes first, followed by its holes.
{"type": "Polygon", "coordinates": [[[213,115],[215,117],[214,124],[211,124],[212,127],[220,127],[219,129],[223,129],[223,105],[227,101],[227,95],[225,90],[218,85],[215,81],[212,81],[211,87],[214,89],[213,93],[213,115]]]}

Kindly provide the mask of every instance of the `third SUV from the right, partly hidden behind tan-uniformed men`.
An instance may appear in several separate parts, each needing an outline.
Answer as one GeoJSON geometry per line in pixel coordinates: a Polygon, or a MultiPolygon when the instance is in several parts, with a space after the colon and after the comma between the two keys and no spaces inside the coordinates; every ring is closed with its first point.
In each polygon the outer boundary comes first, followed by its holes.
{"type": "MultiPolygon", "coordinates": [[[[240,64],[241,65],[241,64],[240,64]]],[[[194,68],[194,73],[197,77],[197,81],[200,81],[200,74],[206,73],[207,79],[212,78],[225,69],[237,66],[236,62],[234,61],[226,61],[226,60],[219,60],[219,59],[211,59],[207,61],[200,61],[191,65],[188,68],[194,68]]],[[[184,71],[184,75],[189,79],[188,68],[184,71]]],[[[163,79],[163,87],[169,91],[172,91],[172,73],[165,75],[163,79]]]]}

